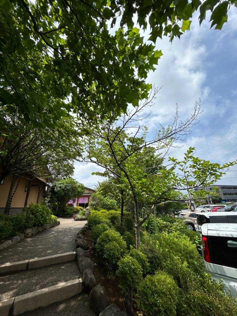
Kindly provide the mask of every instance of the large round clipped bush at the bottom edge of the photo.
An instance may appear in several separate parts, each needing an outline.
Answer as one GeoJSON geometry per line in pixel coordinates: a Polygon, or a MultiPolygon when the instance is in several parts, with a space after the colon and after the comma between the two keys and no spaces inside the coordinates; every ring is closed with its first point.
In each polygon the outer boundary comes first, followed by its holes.
{"type": "Polygon", "coordinates": [[[146,315],[176,316],[179,288],[172,277],[163,271],[146,276],[137,289],[138,308],[146,315]]]}

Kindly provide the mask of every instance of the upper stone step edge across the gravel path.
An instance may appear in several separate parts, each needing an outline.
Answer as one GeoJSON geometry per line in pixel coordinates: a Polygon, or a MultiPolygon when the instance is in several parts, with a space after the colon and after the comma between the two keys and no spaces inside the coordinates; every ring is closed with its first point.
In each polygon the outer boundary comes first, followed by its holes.
{"type": "Polygon", "coordinates": [[[31,260],[16,261],[0,265],[0,276],[7,275],[15,271],[41,268],[46,265],[73,261],[76,259],[76,252],[65,252],[48,257],[36,258],[31,260]]]}

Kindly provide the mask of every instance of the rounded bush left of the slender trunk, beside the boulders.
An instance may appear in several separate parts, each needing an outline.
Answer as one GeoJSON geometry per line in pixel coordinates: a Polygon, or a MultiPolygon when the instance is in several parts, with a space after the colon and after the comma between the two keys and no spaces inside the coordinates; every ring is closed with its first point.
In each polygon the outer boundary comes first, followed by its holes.
{"type": "Polygon", "coordinates": [[[117,263],[126,251],[126,243],[118,232],[109,229],[98,238],[96,251],[106,264],[112,265],[117,263]]]}

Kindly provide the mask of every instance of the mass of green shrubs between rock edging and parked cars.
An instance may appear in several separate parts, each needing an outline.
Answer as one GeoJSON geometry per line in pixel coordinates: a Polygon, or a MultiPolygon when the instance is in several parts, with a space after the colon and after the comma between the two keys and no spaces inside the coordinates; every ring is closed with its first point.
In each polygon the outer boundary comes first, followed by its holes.
{"type": "Polygon", "coordinates": [[[237,299],[205,273],[197,251],[198,234],[181,219],[152,216],[141,232],[141,246],[135,249],[135,233],[130,230],[134,244],[127,244],[125,226],[118,229],[108,213],[93,211],[88,226],[100,262],[119,277],[130,313],[135,304],[140,316],[236,315],[237,299]]]}

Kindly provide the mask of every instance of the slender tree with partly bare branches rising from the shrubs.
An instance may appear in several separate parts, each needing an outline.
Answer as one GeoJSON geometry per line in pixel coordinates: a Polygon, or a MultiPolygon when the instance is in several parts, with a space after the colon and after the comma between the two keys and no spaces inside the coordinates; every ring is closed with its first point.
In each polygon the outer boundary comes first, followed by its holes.
{"type": "MultiPolygon", "coordinates": [[[[154,96],[151,96],[150,101],[153,98],[154,96]]],[[[84,146],[87,149],[84,161],[91,161],[104,167],[108,173],[120,179],[120,187],[131,192],[134,202],[136,247],[140,245],[140,228],[154,212],[155,207],[189,199],[189,195],[181,193],[182,191],[188,191],[193,199],[203,198],[207,192],[195,189],[214,185],[224,174],[224,169],[234,164],[221,166],[202,160],[195,157],[195,149],[190,148],[183,160],[169,158],[169,168],[158,168],[159,166],[154,165],[155,172],[150,174],[150,167],[146,167],[146,161],[149,161],[151,154],[162,152],[163,156],[166,156],[175,141],[184,140],[190,133],[191,126],[196,124],[200,107],[196,104],[194,114],[184,122],[179,122],[177,112],[173,123],[167,128],[161,127],[155,137],[149,140],[148,131],[142,126],[141,117],[141,112],[146,104],[149,104],[149,100],[147,102],[120,119],[110,117],[104,120],[98,129],[91,131],[84,146]],[[142,130],[142,137],[138,137],[142,130]],[[151,146],[152,151],[148,150],[151,146]],[[146,206],[146,212],[143,214],[139,210],[141,200],[146,206]]]]}

